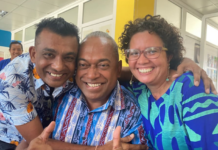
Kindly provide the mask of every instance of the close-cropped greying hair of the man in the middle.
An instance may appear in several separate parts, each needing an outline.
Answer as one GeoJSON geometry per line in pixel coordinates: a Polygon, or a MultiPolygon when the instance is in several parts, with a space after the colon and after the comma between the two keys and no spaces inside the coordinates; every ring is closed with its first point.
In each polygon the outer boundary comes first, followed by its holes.
{"type": "Polygon", "coordinates": [[[89,33],[88,35],[86,35],[86,37],[82,40],[81,45],[89,38],[92,37],[103,37],[106,38],[107,40],[109,40],[112,44],[113,50],[114,50],[114,54],[117,57],[116,59],[119,60],[119,53],[118,53],[118,46],[117,43],[114,41],[114,39],[107,33],[102,32],[102,31],[94,31],[92,33],[89,33]]]}

